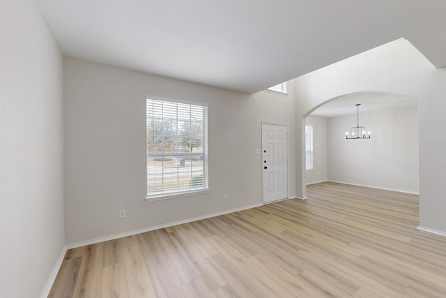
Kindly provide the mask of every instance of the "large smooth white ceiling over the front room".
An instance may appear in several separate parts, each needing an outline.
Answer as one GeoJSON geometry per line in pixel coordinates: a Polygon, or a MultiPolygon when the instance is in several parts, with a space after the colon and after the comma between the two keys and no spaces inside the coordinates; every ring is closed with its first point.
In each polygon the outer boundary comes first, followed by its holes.
{"type": "Polygon", "coordinates": [[[406,38],[446,65],[445,0],[37,0],[63,54],[249,94],[406,38]]]}

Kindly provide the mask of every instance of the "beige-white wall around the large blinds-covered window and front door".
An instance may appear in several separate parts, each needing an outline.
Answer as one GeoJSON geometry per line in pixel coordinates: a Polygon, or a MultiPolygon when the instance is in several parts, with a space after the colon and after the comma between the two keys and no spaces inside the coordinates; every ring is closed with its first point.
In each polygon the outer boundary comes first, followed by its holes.
{"type": "Polygon", "coordinates": [[[260,204],[261,121],[289,124],[295,194],[292,83],[290,96],[249,96],[66,58],[64,84],[68,244],[260,204]],[[146,96],[208,104],[209,193],[144,202],[146,96]]]}

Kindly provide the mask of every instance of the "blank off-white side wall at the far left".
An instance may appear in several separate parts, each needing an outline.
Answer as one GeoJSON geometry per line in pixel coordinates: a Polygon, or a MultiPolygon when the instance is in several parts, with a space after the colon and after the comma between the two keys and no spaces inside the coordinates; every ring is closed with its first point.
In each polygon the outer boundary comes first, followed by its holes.
{"type": "Polygon", "coordinates": [[[0,296],[38,297],[63,251],[63,60],[36,1],[0,3],[0,296]]]}

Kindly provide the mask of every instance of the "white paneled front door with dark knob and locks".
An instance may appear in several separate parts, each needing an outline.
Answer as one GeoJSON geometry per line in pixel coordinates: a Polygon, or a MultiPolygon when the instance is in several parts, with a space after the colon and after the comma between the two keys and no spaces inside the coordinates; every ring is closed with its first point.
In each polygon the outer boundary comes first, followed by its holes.
{"type": "Polygon", "coordinates": [[[262,124],[263,203],[288,198],[288,128],[262,124]]]}

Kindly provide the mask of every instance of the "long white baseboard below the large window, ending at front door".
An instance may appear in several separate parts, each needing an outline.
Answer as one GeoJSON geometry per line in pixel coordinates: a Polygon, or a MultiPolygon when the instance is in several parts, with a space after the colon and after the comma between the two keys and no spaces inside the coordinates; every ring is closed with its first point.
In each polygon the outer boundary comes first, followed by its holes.
{"type": "Polygon", "coordinates": [[[251,204],[251,205],[248,205],[248,206],[245,206],[245,207],[229,209],[229,210],[225,210],[225,211],[216,212],[216,213],[213,213],[213,214],[206,214],[206,215],[203,215],[203,216],[186,218],[186,219],[183,219],[181,221],[171,221],[170,223],[163,223],[161,225],[153,225],[151,227],[142,228],[142,229],[138,229],[138,230],[132,230],[132,231],[123,232],[123,233],[119,233],[119,234],[113,234],[113,235],[100,237],[100,238],[96,238],[96,239],[80,241],[80,242],[76,242],[76,243],[72,243],[72,244],[67,244],[66,248],[67,249],[72,249],[72,248],[78,248],[78,247],[81,247],[81,246],[97,244],[97,243],[100,243],[100,242],[103,242],[103,241],[109,241],[109,240],[114,240],[114,239],[118,239],[118,238],[122,238],[122,237],[128,237],[128,236],[132,236],[134,234],[150,232],[150,231],[153,231],[153,230],[159,230],[159,229],[163,229],[163,228],[172,227],[174,225],[181,225],[183,223],[191,223],[192,221],[201,221],[202,219],[206,219],[206,218],[211,218],[211,217],[215,217],[215,216],[229,214],[229,213],[232,213],[232,212],[243,211],[243,210],[246,210],[246,209],[252,209],[252,208],[255,208],[255,207],[260,207],[261,205],[262,204],[259,204],[259,203],[251,204]]]}

